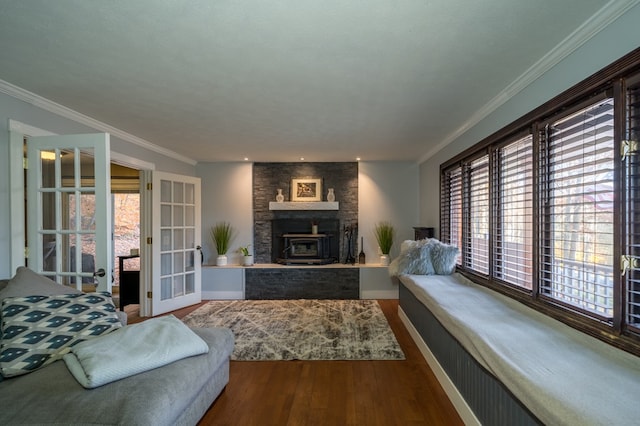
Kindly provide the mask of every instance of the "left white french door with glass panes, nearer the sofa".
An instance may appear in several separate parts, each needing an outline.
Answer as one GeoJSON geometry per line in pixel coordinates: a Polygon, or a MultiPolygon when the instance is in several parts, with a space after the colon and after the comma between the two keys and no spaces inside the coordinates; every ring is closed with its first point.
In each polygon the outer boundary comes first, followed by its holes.
{"type": "Polygon", "coordinates": [[[79,290],[111,291],[109,135],[27,139],[28,265],[79,290]]]}

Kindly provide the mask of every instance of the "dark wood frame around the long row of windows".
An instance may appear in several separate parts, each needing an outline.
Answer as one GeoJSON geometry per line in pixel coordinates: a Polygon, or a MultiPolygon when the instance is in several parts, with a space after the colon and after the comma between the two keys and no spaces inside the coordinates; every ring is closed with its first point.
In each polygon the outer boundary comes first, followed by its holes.
{"type": "MultiPolygon", "coordinates": [[[[634,293],[629,290],[631,285],[636,284],[636,291],[638,293],[638,312],[636,317],[640,318],[640,232],[638,241],[627,241],[631,237],[627,237],[626,233],[629,232],[629,219],[632,217],[640,218],[640,211],[629,212],[629,209],[635,208],[637,205],[640,207],[640,203],[625,202],[627,197],[631,197],[630,194],[635,194],[629,187],[640,187],[640,176],[627,177],[625,172],[625,165],[623,161],[618,161],[621,158],[621,151],[624,148],[623,141],[625,138],[633,138],[629,136],[631,131],[627,131],[627,126],[632,118],[628,116],[630,101],[627,93],[627,86],[635,85],[640,87],[640,48],[625,55],[618,61],[607,66],[601,71],[596,72],[592,76],[576,84],[569,90],[554,97],[550,101],[534,109],[530,113],[524,115],[513,123],[498,130],[494,134],[488,136],[482,141],[478,142],[473,147],[458,154],[454,158],[446,161],[440,166],[440,196],[441,196],[441,210],[440,210],[440,232],[441,239],[445,242],[451,242],[452,244],[458,244],[457,241],[449,241],[452,234],[449,226],[452,224],[452,218],[447,217],[447,212],[450,207],[448,202],[449,194],[447,193],[450,188],[447,182],[447,177],[450,176],[454,170],[462,170],[463,174],[463,186],[468,183],[466,171],[472,161],[483,155],[489,155],[489,175],[490,175],[490,191],[489,191],[489,205],[490,205],[490,223],[496,220],[497,211],[499,209],[499,199],[497,195],[497,179],[495,158],[496,151],[505,146],[509,142],[517,140],[526,134],[533,136],[533,270],[532,270],[532,288],[527,289],[522,286],[510,284],[502,281],[496,277],[494,273],[494,231],[495,225],[490,227],[491,232],[488,236],[489,240],[489,273],[479,274],[471,268],[468,268],[468,259],[464,258],[465,248],[461,247],[462,259],[458,263],[458,271],[463,273],[473,281],[489,287],[502,294],[510,296],[521,303],[528,305],[544,314],[547,314],[553,318],[556,318],[578,330],[581,330],[589,335],[592,335],[598,339],[601,339],[609,344],[624,349],[628,352],[640,355],[640,319],[637,323],[628,323],[629,319],[633,319],[634,316],[630,315],[628,310],[633,310],[635,306],[632,301],[627,298],[634,297],[634,293]],[[591,312],[586,312],[583,309],[573,307],[569,304],[562,303],[554,298],[546,297],[543,289],[540,286],[540,231],[544,230],[541,225],[540,215],[540,188],[541,183],[541,169],[540,169],[540,144],[541,144],[541,132],[544,130],[544,126],[554,117],[568,114],[571,111],[577,111],[581,107],[590,103],[596,102],[597,99],[603,98],[604,95],[613,96],[614,98],[614,156],[615,170],[614,170],[614,193],[615,193],[615,208],[613,218],[613,264],[614,267],[614,294],[613,294],[613,318],[607,318],[604,316],[595,315],[591,312]],[[635,180],[633,180],[635,179],[635,180]],[[626,194],[626,195],[625,195],[626,194]],[[635,214],[635,216],[634,216],[635,214]],[[635,244],[635,245],[634,245],[635,244]],[[637,252],[633,252],[630,247],[638,247],[637,252]],[[627,255],[629,253],[629,255],[627,255]],[[617,265],[627,261],[626,275],[622,274],[622,269],[618,271],[617,265]],[[618,273],[620,272],[620,273],[618,273]],[[629,290],[629,292],[628,292],[629,290]]],[[[640,105],[640,103],[639,103],[640,105]]],[[[637,107],[640,110],[640,106],[637,107]]],[[[635,117],[634,119],[636,119],[635,117]]],[[[633,133],[636,135],[637,133],[633,133]]],[[[637,139],[637,138],[636,138],[637,139]]],[[[638,150],[638,153],[632,153],[634,162],[640,163],[640,160],[636,160],[640,157],[640,141],[632,141],[631,144],[635,144],[632,149],[638,150]]],[[[635,163],[634,163],[635,164],[635,163]]],[[[640,167],[638,167],[640,169],[640,167]]],[[[634,169],[635,170],[635,169],[634,169]]],[[[640,174],[639,174],[640,175],[640,174]]],[[[468,202],[465,190],[463,189],[463,217],[462,228],[464,242],[469,238],[469,218],[468,216],[468,202]]],[[[495,223],[495,222],[493,222],[495,223]]]]}

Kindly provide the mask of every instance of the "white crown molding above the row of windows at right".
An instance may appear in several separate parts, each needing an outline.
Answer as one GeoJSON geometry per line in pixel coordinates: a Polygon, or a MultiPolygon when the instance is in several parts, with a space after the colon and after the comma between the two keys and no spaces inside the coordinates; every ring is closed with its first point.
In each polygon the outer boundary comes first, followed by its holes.
{"type": "Polygon", "coordinates": [[[482,108],[476,111],[467,121],[465,121],[458,129],[449,136],[444,138],[442,142],[429,150],[418,160],[418,164],[422,164],[429,158],[433,157],[445,146],[455,141],[457,138],[468,132],[473,126],[487,118],[492,112],[497,110],[509,99],[520,93],[531,83],[540,78],[544,73],[556,66],[560,61],[569,56],[580,46],[589,41],[593,36],[598,34],[604,28],[609,26],[613,21],[624,15],[629,9],[640,3],[640,0],[610,0],[600,10],[587,19],[582,25],[576,28],[571,34],[565,37],[556,47],[551,49],[549,53],[544,55],[540,60],[533,64],[523,74],[516,78],[511,84],[504,88],[497,96],[486,103],[482,108]]]}

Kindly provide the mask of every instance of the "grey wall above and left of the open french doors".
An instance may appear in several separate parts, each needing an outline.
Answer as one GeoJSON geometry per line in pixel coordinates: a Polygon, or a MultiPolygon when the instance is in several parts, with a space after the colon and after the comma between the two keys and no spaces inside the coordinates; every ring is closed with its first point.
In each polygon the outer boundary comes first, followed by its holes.
{"type": "MultiPolygon", "coordinates": [[[[0,278],[13,276],[9,264],[11,241],[9,198],[9,120],[16,120],[56,134],[99,133],[86,125],[77,123],[46,111],[33,104],[0,93],[0,278]]],[[[152,142],[152,141],[151,141],[152,142]]],[[[191,164],[175,160],[157,152],[111,137],[111,150],[124,157],[151,163],[156,170],[188,176],[195,174],[191,164]]]]}

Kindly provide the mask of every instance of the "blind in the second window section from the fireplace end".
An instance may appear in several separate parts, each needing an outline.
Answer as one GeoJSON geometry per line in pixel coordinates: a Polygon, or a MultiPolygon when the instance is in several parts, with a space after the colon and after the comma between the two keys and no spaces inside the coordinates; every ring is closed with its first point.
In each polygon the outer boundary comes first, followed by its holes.
{"type": "Polygon", "coordinates": [[[463,261],[467,268],[489,274],[489,156],[469,164],[466,186],[468,231],[464,233],[463,261]]]}

